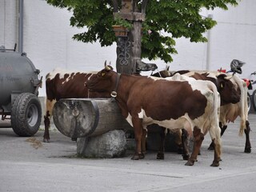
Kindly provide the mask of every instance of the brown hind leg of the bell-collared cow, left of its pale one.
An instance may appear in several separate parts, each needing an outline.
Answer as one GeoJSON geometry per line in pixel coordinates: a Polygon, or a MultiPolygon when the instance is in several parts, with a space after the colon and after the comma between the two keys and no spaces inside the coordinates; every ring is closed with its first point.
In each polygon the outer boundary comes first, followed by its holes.
{"type": "Polygon", "coordinates": [[[194,162],[197,161],[198,153],[200,151],[200,147],[202,146],[202,141],[204,139],[204,135],[201,133],[201,130],[197,126],[194,127],[193,135],[194,148],[189,160],[185,164],[186,166],[193,166],[194,162]]]}

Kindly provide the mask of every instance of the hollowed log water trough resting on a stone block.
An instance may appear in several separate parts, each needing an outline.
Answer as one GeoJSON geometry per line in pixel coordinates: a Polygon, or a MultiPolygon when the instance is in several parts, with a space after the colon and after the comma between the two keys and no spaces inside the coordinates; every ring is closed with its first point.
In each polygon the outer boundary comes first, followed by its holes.
{"type": "Polygon", "coordinates": [[[109,130],[131,130],[110,98],[65,98],[54,105],[54,124],[70,138],[94,137],[109,130]]]}

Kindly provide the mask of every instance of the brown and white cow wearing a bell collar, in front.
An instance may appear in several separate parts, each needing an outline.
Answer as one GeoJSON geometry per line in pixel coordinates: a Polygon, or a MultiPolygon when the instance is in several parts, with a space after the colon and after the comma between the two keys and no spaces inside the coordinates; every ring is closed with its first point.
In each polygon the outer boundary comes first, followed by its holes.
{"type": "Polygon", "coordinates": [[[193,132],[194,150],[187,166],[194,165],[204,135],[209,131],[215,146],[211,166],[219,165],[222,146],[218,126],[220,100],[214,83],[194,78],[175,81],[173,78],[118,74],[106,66],[90,77],[86,86],[92,92],[107,91],[116,96],[122,115],[134,127],[136,150],[132,159],[144,158],[141,149],[143,129],[156,123],[170,130],[185,128],[193,132]]]}

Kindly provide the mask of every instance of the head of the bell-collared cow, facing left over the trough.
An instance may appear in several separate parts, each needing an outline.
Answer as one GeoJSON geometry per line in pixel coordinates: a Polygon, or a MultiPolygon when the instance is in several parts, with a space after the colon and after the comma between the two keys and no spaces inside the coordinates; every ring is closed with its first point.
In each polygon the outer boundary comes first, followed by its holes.
{"type": "Polygon", "coordinates": [[[114,90],[117,81],[117,73],[114,72],[112,66],[105,66],[96,75],[90,77],[86,82],[86,87],[91,92],[109,92],[114,90]]]}

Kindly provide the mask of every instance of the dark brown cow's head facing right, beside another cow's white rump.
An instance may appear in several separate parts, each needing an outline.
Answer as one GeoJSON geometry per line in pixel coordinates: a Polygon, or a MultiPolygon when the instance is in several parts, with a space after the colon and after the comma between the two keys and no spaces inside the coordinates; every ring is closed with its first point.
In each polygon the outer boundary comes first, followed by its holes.
{"type": "Polygon", "coordinates": [[[228,103],[237,103],[241,98],[241,91],[230,81],[233,76],[226,76],[226,74],[216,75],[217,81],[216,86],[221,97],[221,105],[228,103]]]}

